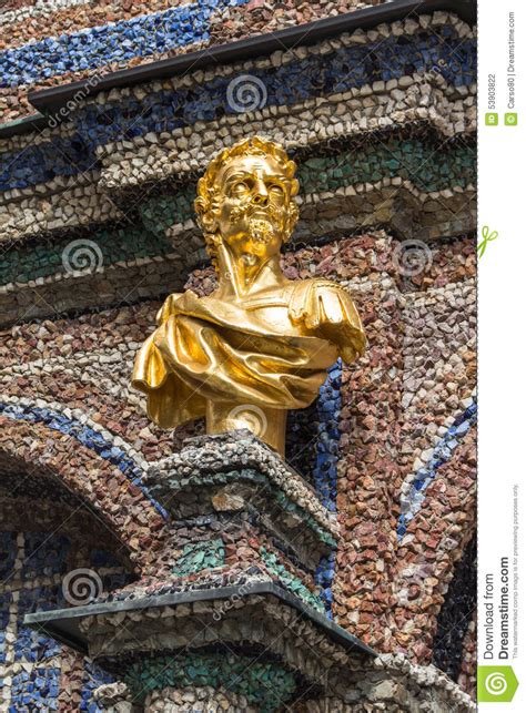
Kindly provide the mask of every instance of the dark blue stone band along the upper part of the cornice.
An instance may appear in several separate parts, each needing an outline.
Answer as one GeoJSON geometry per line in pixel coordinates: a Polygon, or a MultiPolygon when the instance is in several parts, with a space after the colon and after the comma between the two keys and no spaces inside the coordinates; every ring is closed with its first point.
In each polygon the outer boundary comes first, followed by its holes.
{"type": "MultiPolygon", "coordinates": [[[[206,12],[210,12],[210,1],[202,4],[206,6],[206,12]]],[[[224,0],[220,4],[224,6],[224,0]]],[[[196,3],[189,6],[189,8],[195,7],[196,3]]],[[[181,8],[173,8],[163,13],[163,17],[169,12],[175,13],[179,18],[181,8]]],[[[193,17],[194,10],[189,12],[193,17]]],[[[151,21],[154,16],[148,17],[151,21]]],[[[138,19],[129,22],[136,23],[138,19]]],[[[127,31],[128,26],[118,23],[115,28],[114,32],[122,33],[127,31]],[[121,26],[119,30],[118,27],[121,26]]],[[[90,31],[93,30],[92,28],[90,31]]],[[[103,32],[107,30],[108,28],[101,29],[102,34],[97,34],[98,41],[103,41],[103,32]]],[[[128,31],[131,31],[130,28],[128,31]]],[[[251,74],[264,83],[269,106],[291,105],[305,99],[345,92],[378,79],[386,81],[433,68],[455,86],[475,81],[474,40],[461,40],[452,32],[443,44],[433,49],[433,45],[438,42],[433,33],[419,33],[402,39],[388,38],[374,50],[370,44],[360,48],[341,48],[330,55],[310,55],[304,60],[279,68],[269,70],[254,68],[251,74]],[[402,43],[402,39],[406,44],[402,43]]],[[[180,40],[182,41],[181,38],[180,40]]],[[[6,62],[9,65],[14,62],[14,55],[11,57],[10,52],[29,51],[28,48],[31,48],[31,52],[34,53],[39,44],[42,43],[0,52],[0,78],[6,62]],[[9,57],[11,59],[8,61],[6,58],[9,57]]],[[[49,44],[42,47],[48,53],[54,51],[49,44]]],[[[59,47],[62,47],[60,51],[65,51],[65,45],[59,44],[59,47]]],[[[117,47],[118,51],[122,51],[120,41],[117,41],[117,47]]],[[[79,52],[84,57],[85,48],[82,47],[79,52]]],[[[43,61],[40,55],[39,61],[43,61]]],[[[60,59],[55,59],[57,61],[60,59]]],[[[65,59],[62,61],[65,62],[65,59]]],[[[103,63],[109,60],[104,60],[103,63]]],[[[20,62],[21,59],[18,57],[16,64],[20,67],[20,62]]],[[[34,62],[29,62],[28,68],[38,73],[34,62]]],[[[67,71],[71,71],[71,68],[67,71]]],[[[55,176],[75,175],[81,171],[98,169],[95,150],[109,142],[132,139],[151,131],[158,133],[173,131],[175,128],[192,125],[196,121],[216,120],[224,114],[234,115],[235,109],[229,105],[227,101],[229,84],[229,78],[216,77],[210,82],[193,88],[162,90],[145,96],[142,102],[130,96],[122,98],[118,104],[82,106],[70,114],[70,120],[77,128],[72,136],[57,136],[20,152],[2,154],[4,169],[0,173],[0,190],[28,187],[48,182],[55,176]]]]}

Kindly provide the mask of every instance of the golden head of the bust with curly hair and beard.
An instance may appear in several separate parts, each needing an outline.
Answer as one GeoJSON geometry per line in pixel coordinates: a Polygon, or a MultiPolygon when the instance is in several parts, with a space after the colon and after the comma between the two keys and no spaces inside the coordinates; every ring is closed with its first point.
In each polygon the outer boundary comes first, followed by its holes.
{"type": "Polygon", "coordinates": [[[297,222],[296,164],[283,146],[253,136],[224,149],[198,183],[195,212],[215,262],[219,246],[234,255],[271,257],[297,222]]]}

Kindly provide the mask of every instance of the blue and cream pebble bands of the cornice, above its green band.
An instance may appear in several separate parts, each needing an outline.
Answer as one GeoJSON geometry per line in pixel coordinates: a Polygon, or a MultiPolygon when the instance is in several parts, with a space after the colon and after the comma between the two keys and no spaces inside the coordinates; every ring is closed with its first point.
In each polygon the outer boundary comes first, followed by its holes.
{"type": "MultiPolygon", "coordinates": [[[[230,143],[257,132],[294,150],[415,123],[434,128],[442,149],[435,159],[444,155],[447,165],[421,161],[415,175],[407,161],[422,147],[387,146],[391,155],[382,159],[384,142],[370,144],[367,151],[375,155],[364,155],[354,177],[345,169],[307,193],[320,202],[320,194],[326,201],[327,192],[344,187],[344,195],[352,197],[351,189],[376,194],[391,186],[407,194],[409,204],[431,192],[425,213],[433,201],[448,206],[453,194],[468,192],[473,184],[469,146],[456,146],[448,155],[442,143],[444,136],[474,133],[475,78],[473,30],[455,16],[436,12],[276,52],[270,59],[89,94],[73,102],[64,124],[51,122],[37,135],[1,142],[7,166],[1,176],[4,235],[18,238],[122,218],[131,206],[115,200],[115,192],[193,176],[215,151],[218,136],[230,143]],[[239,104],[233,82],[249,95],[249,85],[255,83],[261,98],[253,106],[239,104]]],[[[314,166],[313,173],[318,172],[314,166]]],[[[462,221],[462,215],[456,222],[453,217],[442,233],[462,221]]]]}

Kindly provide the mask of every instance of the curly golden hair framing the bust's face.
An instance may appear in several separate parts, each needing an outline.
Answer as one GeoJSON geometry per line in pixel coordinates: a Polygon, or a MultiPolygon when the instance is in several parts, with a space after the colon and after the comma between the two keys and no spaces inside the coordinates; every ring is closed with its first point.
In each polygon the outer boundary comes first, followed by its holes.
{"type": "Polygon", "coordinates": [[[230,149],[223,149],[215,159],[213,159],[204,172],[204,175],[198,182],[198,197],[194,201],[195,213],[198,215],[198,225],[204,234],[206,252],[215,265],[218,245],[221,242],[221,235],[215,226],[215,216],[220,210],[219,186],[216,184],[220,171],[236,156],[272,156],[283,169],[283,175],[290,181],[291,206],[285,231],[284,243],[286,243],[299,217],[297,205],[294,196],[297,195],[300,184],[294,177],[296,164],[289,159],[284,147],[275,141],[262,139],[261,136],[251,136],[243,139],[230,149]]]}

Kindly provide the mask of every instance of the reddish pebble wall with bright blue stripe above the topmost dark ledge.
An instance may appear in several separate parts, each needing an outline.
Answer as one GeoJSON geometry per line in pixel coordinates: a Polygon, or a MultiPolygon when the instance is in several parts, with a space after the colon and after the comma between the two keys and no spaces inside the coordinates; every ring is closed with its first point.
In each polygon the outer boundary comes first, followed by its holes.
{"type": "Polygon", "coordinates": [[[27,94],[79,79],[303,24],[383,0],[7,0],[0,114],[34,113],[27,94]]]}

